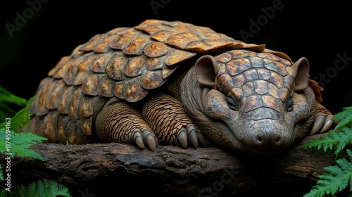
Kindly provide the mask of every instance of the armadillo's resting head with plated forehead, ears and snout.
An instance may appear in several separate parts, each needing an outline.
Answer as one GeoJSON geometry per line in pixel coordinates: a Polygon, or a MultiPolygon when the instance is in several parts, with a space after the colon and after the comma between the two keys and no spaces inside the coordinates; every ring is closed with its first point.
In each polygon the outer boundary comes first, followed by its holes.
{"type": "Polygon", "coordinates": [[[216,125],[202,129],[215,144],[248,153],[279,153],[306,135],[315,96],[306,58],[291,63],[271,53],[235,50],[202,56],[196,79],[203,110],[216,125]],[[212,74],[213,73],[213,74],[212,74]]]}

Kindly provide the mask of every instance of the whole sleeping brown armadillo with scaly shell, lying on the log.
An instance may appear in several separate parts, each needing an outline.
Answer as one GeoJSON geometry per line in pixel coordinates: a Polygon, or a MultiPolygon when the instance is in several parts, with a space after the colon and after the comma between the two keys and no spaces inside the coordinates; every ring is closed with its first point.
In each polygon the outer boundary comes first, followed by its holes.
{"type": "Polygon", "coordinates": [[[39,84],[29,129],[63,144],[114,141],[156,151],[210,141],[272,155],[332,127],[308,72],[305,58],[293,64],[265,45],[145,20],[96,34],[61,58],[39,84]]]}

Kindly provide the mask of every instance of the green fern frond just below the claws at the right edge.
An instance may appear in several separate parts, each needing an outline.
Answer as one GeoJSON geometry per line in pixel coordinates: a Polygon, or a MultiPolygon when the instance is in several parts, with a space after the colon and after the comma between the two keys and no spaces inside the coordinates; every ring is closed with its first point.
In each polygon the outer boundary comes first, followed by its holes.
{"type": "Polygon", "coordinates": [[[352,130],[348,127],[342,127],[341,130],[332,130],[327,136],[322,136],[312,141],[298,146],[302,148],[322,148],[325,152],[329,149],[335,149],[335,154],[338,155],[348,144],[352,144],[352,130]]]}

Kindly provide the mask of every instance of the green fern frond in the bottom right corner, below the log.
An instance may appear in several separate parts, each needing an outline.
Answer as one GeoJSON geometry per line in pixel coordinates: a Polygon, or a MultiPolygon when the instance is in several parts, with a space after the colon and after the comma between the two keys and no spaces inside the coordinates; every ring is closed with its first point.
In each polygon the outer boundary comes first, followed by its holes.
{"type": "Polygon", "coordinates": [[[336,161],[337,165],[325,167],[324,169],[327,173],[319,176],[318,182],[304,197],[334,195],[334,193],[346,189],[348,185],[350,186],[350,191],[352,191],[352,183],[350,181],[352,177],[352,153],[350,150],[348,150],[348,156],[350,161],[341,158],[336,161]]]}

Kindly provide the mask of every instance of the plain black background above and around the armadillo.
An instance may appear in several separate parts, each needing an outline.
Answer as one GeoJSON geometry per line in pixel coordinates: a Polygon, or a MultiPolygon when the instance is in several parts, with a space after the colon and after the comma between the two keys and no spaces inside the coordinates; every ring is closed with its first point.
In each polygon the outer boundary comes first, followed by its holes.
{"type": "Polygon", "coordinates": [[[234,39],[266,44],[293,61],[304,56],[310,62],[310,77],[325,82],[323,104],[332,113],[352,106],[351,6],[346,1],[42,1],[6,1],[8,5],[0,8],[0,86],[23,98],[33,96],[60,58],[94,34],[156,18],[207,26],[234,39]],[[27,2],[39,2],[40,8],[36,4],[34,11],[27,2]],[[279,5],[277,9],[273,4],[279,5]],[[263,9],[275,13],[268,17],[263,9]],[[25,14],[27,19],[19,23],[18,15],[25,14]],[[261,26],[254,32],[250,20],[258,18],[261,26]],[[9,24],[22,27],[10,32],[9,24]],[[240,31],[253,37],[244,39],[240,31]],[[338,53],[347,59],[337,69],[338,53]],[[320,75],[327,75],[325,81],[320,75]]]}

